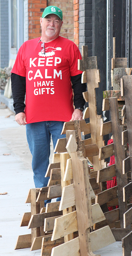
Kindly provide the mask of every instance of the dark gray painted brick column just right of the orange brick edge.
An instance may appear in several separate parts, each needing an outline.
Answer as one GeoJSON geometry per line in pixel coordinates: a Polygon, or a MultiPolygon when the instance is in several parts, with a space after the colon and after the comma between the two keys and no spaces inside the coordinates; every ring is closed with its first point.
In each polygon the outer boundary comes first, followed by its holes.
{"type": "Polygon", "coordinates": [[[79,49],[88,46],[88,56],[92,56],[92,0],[79,0],[79,49]]]}

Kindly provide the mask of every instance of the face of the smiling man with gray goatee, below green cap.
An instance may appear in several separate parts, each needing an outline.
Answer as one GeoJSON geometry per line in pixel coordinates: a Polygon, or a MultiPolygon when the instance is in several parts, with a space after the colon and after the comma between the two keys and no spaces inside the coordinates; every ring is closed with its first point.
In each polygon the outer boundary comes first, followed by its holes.
{"type": "Polygon", "coordinates": [[[55,39],[59,36],[63,21],[55,14],[47,15],[45,18],[40,18],[42,28],[42,36],[49,39],[55,39]]]}

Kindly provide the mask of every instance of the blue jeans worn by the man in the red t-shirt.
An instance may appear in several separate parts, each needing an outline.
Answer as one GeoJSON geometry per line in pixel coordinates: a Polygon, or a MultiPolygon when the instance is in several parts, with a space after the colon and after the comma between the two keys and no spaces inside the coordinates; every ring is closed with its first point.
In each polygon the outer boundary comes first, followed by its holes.
{"type": "Polygon", "coordinates": [[[52,135],[53,147],[57,139],[65,138],[61,134],[64,122],[43,121],[26,125],[27,142],[32,158],[34,184],[36,188],[46,187],[49,177],[45,174],[49,165],[50,137],[52,135]]]}

